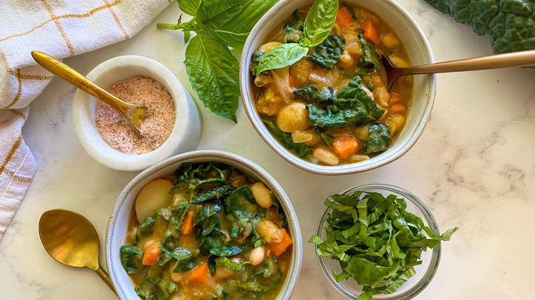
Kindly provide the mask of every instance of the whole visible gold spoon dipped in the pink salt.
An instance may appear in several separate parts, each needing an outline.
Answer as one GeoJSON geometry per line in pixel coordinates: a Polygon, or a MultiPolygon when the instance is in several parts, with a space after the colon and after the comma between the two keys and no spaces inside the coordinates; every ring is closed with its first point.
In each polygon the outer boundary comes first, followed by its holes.
{"type": "Polygon", "coordinates": [[[32,51],[32,57],[38,64],[40,64],[40,66],[45,68],[53,75],[60,77],[65,82],[80,88],[80,90],[87,92],[89,95],[104,101],[112,108],[115,108],[115,110],[123,114],[123,116],[130,121],[132,127],[139,132],[139,124],[141,124],[141,121],[143,121],[143,118],[145,118],[145,112],[147,112],[147,108],[145,106],[122,101],[121,99],[111,95],[109,92],[106,92],[106,90],[100,88],[96,84],[93,84],[93,82],[80,75],[80,73],[76,72],[70,66],[67,66],[67,64],[56,60],[56,58],[53,58],[50,55],[39,51],[32,51]]]}

